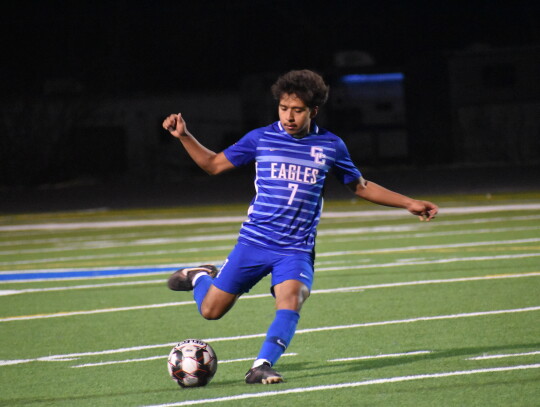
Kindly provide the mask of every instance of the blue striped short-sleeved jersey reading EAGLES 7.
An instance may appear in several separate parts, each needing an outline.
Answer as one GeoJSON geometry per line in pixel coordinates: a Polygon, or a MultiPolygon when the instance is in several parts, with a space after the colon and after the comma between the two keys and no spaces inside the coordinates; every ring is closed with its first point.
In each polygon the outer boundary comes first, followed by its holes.
{"type": "Polygon", "coordinates": [[[247,133],[224,153],[235,167],[256,166],[256,195],[238,241],[280,252],[313,251],[330,169],[343,184],[361,175],[343,140],[315,123],[296,139],[275,122],[247,133]]]}

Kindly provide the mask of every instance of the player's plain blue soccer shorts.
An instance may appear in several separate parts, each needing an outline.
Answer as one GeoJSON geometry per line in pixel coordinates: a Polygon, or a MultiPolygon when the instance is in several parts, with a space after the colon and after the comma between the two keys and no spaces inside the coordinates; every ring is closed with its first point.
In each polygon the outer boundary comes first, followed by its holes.
{"type": "MultiPolygon", "coordinates": [[[[298,280],[311,291],[313,263],[312,253],[282,254],[238,243],[221,267],[213,284],[230,294],[244,294],[271,273],[272,287],[286,280],[298,280]]],[[[271,292],[273,294],[273,289],[271,292]]]]}

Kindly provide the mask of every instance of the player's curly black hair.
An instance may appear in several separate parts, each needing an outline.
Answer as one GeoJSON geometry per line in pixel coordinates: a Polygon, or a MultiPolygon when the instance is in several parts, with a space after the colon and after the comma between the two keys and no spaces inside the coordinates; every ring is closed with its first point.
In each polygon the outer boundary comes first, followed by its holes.
{"type": "Polygon", "coordinates": [[[272,85],[271,90],[276,100],[280,100],[284,94],[294,93],[306,106],[314,108],[326,103],[330,87],[324,83],[321,75],[302,69],[281,75],[272,85]]]}

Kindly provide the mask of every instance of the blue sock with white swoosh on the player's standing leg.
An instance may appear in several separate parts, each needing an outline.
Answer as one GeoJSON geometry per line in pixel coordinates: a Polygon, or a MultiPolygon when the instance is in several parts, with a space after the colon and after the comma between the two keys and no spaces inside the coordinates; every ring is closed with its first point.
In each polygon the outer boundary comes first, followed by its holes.
{"type": "Polygon", "coordinates": [[[296,311],[277,310],[257,359],[266,359],[274,365],[291,343],[299,319],[300,314],[296,311]]]}

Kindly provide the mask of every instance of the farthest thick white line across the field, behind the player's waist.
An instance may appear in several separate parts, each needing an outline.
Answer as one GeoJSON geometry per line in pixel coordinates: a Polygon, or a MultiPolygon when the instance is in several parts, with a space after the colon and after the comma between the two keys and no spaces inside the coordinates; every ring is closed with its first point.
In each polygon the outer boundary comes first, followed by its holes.
{"type": "MultiPolygon", "coordinates": [[[[468,206],[458,208],[440,208],[440,214],[474,214],[489,212],[525,211],[538,210],[540,204],[513,204],[513,205],[486,205],[468,206]]],[[[406,212],[405,212],[406,213],[406,212]]],[[[373,216],[402,216],[403,209],[379,209],[351,212],[326,212],[323,218],[365,218],[373,216]]],[[[246,220],[245,216],[216,216],[205,218],[175,218],[175,219],[144,219],[127,221],[96,221],[96,222],[62,222],[62,223],[37,223],[23,225],[3,225],[0,231],[25,231],[25,230],[73,230],[73,229],[105,229],[105,228],[126,228],[141,226],[162,226],[162,225],[196,225],[196,224],[216,224],[216,223],[236,223],[246,220]]]]}

